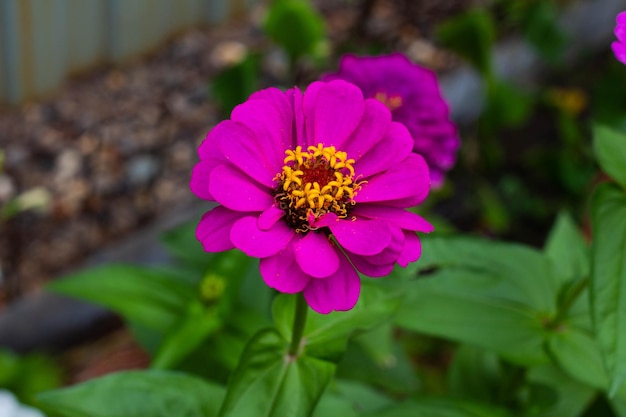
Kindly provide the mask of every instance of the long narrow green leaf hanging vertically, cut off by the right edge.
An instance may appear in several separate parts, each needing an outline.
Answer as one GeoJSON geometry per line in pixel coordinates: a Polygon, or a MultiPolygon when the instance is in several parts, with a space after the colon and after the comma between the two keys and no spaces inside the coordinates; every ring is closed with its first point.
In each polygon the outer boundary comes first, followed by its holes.
{"type": "Polygon", "coordinates": [[[598,186],[591,224],[591,312],[614,394],[626,380],[626,193],[598,186]]]}

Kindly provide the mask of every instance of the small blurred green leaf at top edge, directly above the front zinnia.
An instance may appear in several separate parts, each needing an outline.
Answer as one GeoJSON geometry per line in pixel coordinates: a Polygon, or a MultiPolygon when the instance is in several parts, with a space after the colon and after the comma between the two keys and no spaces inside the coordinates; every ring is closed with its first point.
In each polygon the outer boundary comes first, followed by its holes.
{"type": "Polygon", "coordinates": [[[274,0],[265,32],[280,45],[291,62],[312,55],[324,40],[324,19],[305,0],[274,0]]]}

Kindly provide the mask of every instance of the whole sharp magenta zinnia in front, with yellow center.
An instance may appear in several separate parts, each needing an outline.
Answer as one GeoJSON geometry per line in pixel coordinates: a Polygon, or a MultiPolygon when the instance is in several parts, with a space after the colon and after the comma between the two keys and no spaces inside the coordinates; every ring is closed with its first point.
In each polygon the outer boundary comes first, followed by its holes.
{"type": "Polygon", "coordinates": [[[405,210],[429,191],[412,148],[406,127],[347,82],[259,91],[198,149],[191,189],[219,205],[196,236],[208,252],[260,258],[267,285],[302,291],[320,313],[349,310],[357,270],[382,277],[406,266],[420,256],[415,232],[433,230],[405,210]]]}

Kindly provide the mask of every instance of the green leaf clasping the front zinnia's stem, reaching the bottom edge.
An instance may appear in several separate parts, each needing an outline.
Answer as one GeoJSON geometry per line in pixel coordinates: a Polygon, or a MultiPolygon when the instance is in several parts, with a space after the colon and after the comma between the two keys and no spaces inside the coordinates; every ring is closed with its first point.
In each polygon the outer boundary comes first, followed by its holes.
{"type": "Polygon", "coordinates": [[[228,384],[220,417],[313,413],[335,365],[307,355],[291,357],[287,344],[273,329],[250,341],[228,384]]]}

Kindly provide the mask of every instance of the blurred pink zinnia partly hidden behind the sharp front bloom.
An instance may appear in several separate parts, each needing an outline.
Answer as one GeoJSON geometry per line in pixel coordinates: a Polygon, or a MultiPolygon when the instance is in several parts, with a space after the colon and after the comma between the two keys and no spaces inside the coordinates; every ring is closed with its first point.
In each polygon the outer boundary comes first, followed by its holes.
{"type": "Polygon", "coordinates": [[[400,53],[375,57],[344,55],[339,71],[322,79],[349,81],[365,97],[385,104],[392,119],[411,132],[413,150],[426,159],[433,186],[443,183],[445,172],[456,161],[460,141],[434,72],[413,64],[400,53]]]}

